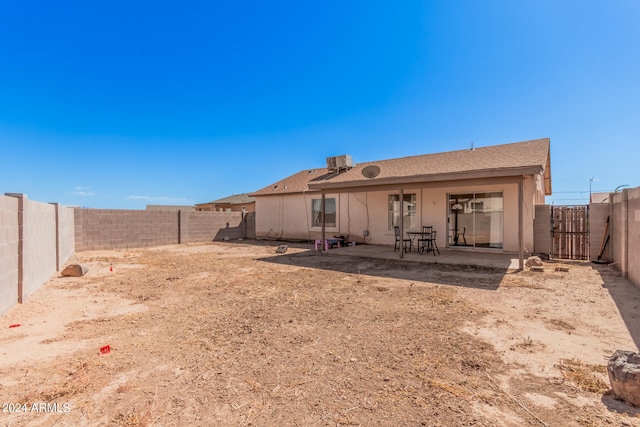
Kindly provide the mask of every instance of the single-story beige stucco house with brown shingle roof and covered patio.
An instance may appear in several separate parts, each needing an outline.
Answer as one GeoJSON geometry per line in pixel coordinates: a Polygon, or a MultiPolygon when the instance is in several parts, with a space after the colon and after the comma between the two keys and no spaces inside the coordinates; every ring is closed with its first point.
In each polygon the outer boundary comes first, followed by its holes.
{"type": "Polygon", "coordinates": [[[548,138],[327,163],[252,193],[256,237],[313,240],[324,229],[327,238],[393,245],[394,226],[419,231],[429,225],[441,248],[532,252],[534,207],[551,194],[548,138]]]}

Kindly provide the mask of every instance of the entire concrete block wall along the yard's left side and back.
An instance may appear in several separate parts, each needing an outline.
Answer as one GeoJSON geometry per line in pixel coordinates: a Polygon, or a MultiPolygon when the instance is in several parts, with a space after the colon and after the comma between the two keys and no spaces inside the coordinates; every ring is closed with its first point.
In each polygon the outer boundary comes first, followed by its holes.
{"type": "Polygon", "coordinates": [[[0,314],[63,269],[75,251],[255,236],[240,212],[79,209],[0,196],[0,314]]]}

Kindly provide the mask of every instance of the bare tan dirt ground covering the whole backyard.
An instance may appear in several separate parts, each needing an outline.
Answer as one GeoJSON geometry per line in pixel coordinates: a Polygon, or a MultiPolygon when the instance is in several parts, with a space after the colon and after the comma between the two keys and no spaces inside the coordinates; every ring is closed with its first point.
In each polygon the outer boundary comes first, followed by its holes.
{"type": "Polygon", "coordinates": [[[605,369],[637,351],[640,291],[610,266],[277,245],[76,254],[87,275],[0,317],[1,424],[640,426],[605,369]]]}

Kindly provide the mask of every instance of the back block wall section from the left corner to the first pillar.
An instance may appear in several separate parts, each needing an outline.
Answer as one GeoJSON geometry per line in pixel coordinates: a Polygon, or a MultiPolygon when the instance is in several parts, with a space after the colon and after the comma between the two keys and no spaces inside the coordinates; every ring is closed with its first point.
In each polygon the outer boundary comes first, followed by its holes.
{"type": "Polygon", "coordinates": [[[143,248],[178,241],[178,212],[75,209],[77,251],[143,248]]]}

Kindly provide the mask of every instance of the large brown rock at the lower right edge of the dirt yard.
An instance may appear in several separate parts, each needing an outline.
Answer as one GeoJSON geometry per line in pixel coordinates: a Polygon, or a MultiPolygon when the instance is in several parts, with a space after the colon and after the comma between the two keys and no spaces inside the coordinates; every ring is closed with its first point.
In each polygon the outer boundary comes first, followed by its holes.
{"type": "Polygon", "coordinates": [[[640,355],[628,350],[616,350],[607,364],[613,394],[640,407],[640,355]]]}

